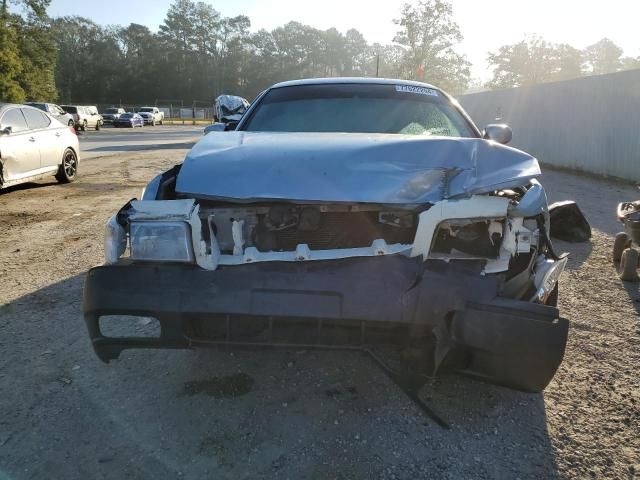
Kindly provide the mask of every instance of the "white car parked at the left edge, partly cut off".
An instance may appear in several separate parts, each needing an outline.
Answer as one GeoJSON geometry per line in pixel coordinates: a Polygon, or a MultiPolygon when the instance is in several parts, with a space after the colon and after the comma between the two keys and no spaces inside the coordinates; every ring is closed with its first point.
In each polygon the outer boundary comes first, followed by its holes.
{"type": "Polygon", "coordinates": [[[0,103],[0,189],[48,176],[72,182],[79,151],[73,128],[36,108],[0,103]]]}

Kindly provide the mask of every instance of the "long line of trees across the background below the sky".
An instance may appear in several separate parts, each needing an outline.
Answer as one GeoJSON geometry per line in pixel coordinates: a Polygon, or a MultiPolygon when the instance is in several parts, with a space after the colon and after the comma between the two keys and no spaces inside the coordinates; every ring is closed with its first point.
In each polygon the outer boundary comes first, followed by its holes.
{"type": "MultiPolygon", "coordinates": [[[[210,103],[221,93],[253,98],[282,80],[376,75],[423,80],[455,94],[471,81],[449,0],[403,5],[388,45],[370,44],[356,29],[299,22],[252,32],[247,16],[225,17],[194,0],[175,0],[156,32],[135,23],[49,18],[49,3],[2,0],[0,100],[210,103]],[[8,2],[21,14],[10,13],[8,2]]],[[[578,50],[529,37],[490,52],[488,61],[488,88],[640,68],[640,59],[623,57],[608,39],[578,50]]]]}

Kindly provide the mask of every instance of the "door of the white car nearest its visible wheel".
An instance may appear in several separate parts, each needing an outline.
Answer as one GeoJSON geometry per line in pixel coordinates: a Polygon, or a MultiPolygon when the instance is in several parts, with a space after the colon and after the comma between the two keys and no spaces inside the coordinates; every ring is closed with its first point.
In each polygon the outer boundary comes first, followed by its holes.
{"type": "Polygon", "coordinates": [[[10,108],[2,115],[0,131],[7,127],[11,127],[11,132],[0,135],[0,159],[5,182],[28,177],[40,168],[40,150],[20,108],[10,108]]]}

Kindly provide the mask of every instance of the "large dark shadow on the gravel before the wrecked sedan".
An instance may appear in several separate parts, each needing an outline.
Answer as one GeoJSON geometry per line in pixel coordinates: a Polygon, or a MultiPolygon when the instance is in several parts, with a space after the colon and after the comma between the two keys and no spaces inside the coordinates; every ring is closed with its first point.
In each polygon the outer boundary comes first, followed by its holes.
{"type": "Polygon", "coordinates": [[[358,353],[140,350],[105,365],[83,280],[0,307],[0,477],[557,478],[541,394],[442,376],[421,397],[444,430],[358,353]]]}

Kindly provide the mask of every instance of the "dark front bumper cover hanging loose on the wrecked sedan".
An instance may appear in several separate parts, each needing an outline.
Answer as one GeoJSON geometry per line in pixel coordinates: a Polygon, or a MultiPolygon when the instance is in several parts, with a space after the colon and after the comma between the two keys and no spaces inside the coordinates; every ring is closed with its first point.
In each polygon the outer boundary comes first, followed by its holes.
{"type": "Polygon", "coordinates": [[[436,357],[464,352],[459,369],[465,373],[542,390],[562,361],[568,321],[554,307],[496,298],[497,280],[479,272],[403,256],[213,271],[127,262],[89,271],[83,308],[93,347],[105,362],[128,348],[212,343],[363,348],[437,339],[436,357]],[[106,337],[100,329],[105,315],[154,317],[161,333],[106,337]],[[252,328],[241,328],[248,321],[252,328]],[[279,329],[279,322],[287,324],[279,329]],[[293,324],[306,329],[295,337],[293,324]],[[330,339],[331,326],[347,333],[330,339]]]}

